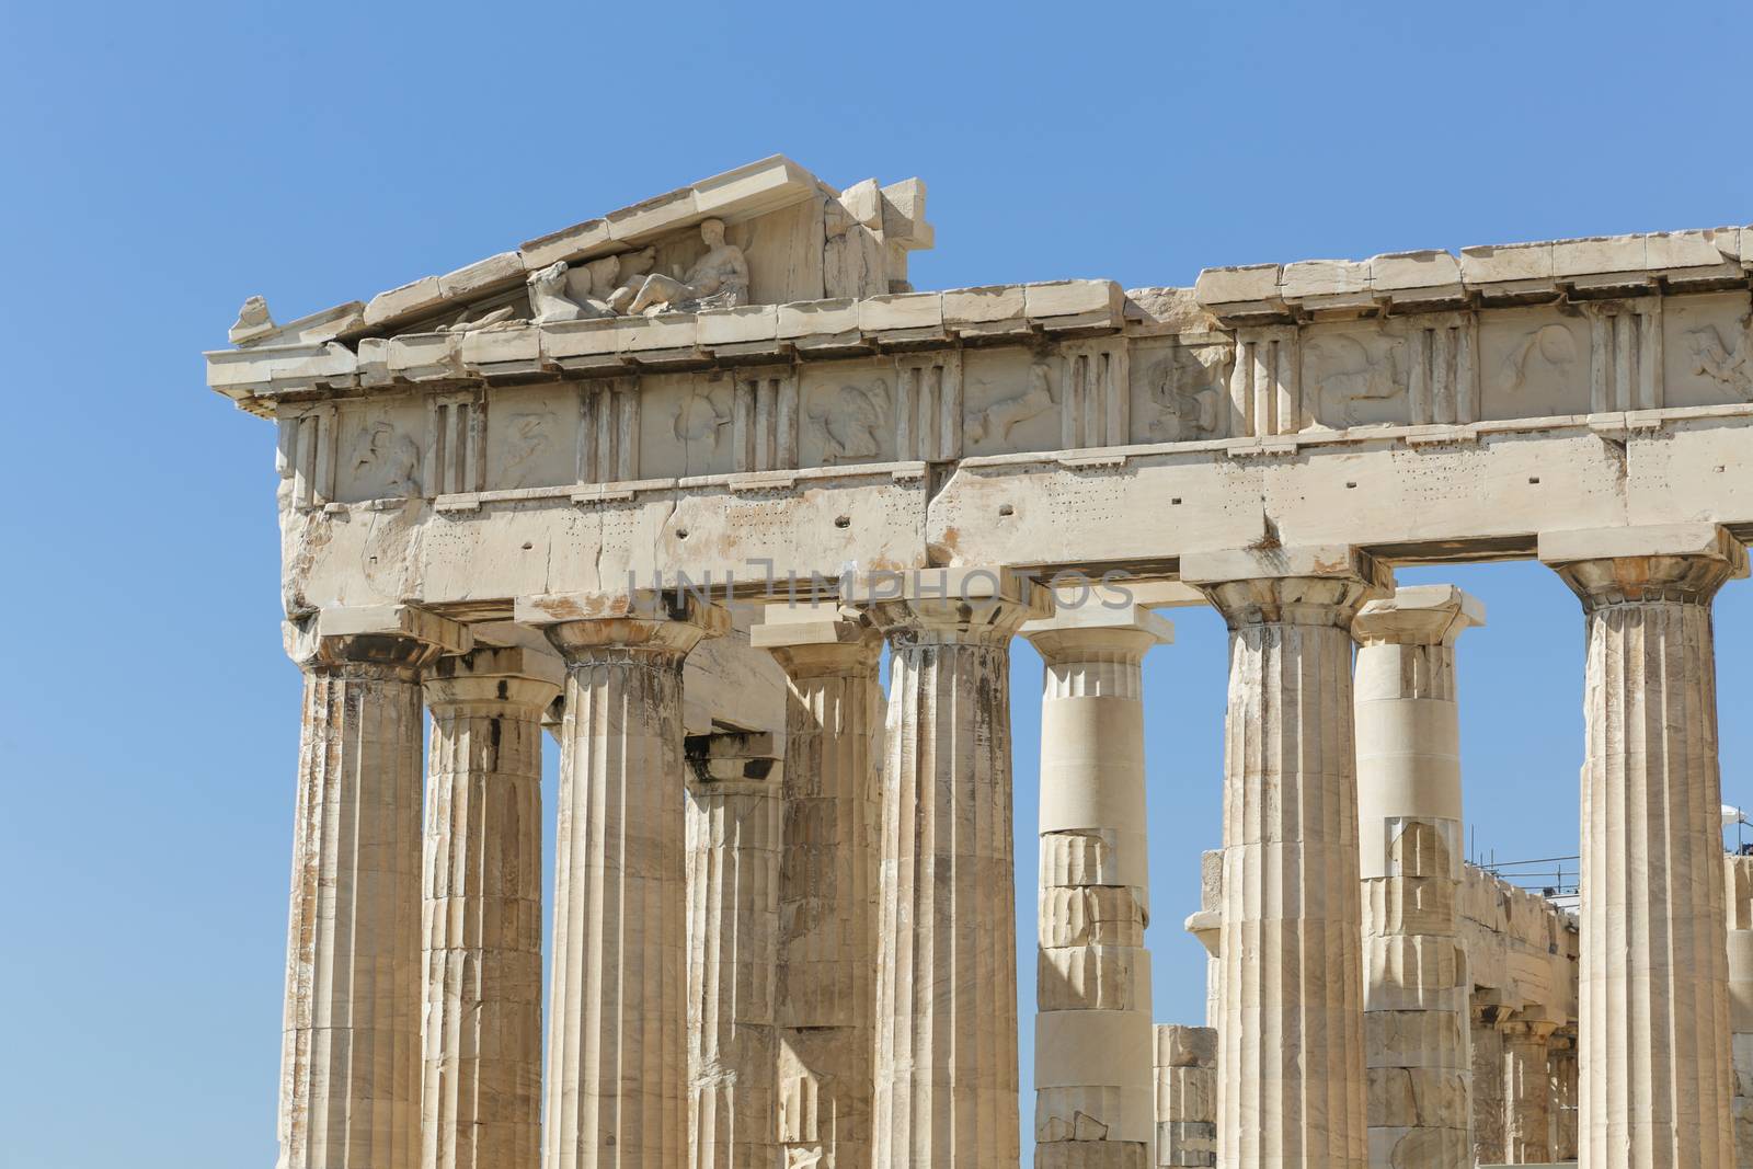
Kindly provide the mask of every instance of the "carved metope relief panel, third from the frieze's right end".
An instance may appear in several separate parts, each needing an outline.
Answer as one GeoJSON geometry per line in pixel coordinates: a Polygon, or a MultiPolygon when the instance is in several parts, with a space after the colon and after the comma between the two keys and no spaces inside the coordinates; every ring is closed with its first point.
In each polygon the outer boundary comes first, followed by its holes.
{"type": "MultiPolygon", "coordinates": [[[[1280,389],[1276,433],[1292,433],[1283,410],[1288,407],[1302,426],[1348,429],[1353,426],[1406,426],[1413,421],[1411,370],[1416,342],[1404,321],[1317,324],[1302,331],[1302,380],[1280,389]]],[[[1255,363],[1259,368],[1259,361],[1255,363]]],[[[1429,372],[1429,366],[1425,366],[1429,372]]],[[[1429,380],[1427,380],[1429,386],[1429,380]]],[[[1257,394],[1255,412],[1266,405],[1257,394]]]]}

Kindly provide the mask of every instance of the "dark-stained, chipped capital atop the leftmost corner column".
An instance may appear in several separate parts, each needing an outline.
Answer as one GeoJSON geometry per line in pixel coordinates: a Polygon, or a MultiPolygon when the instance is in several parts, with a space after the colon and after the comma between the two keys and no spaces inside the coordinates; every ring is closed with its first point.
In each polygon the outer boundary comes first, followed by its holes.
{"type": "Polygon", "coordinates": [[[412,605],[324,608],[280,624],[300,670],[365,671],[414,678],[440,654],[473,648],[468,626],[412,605]]]}

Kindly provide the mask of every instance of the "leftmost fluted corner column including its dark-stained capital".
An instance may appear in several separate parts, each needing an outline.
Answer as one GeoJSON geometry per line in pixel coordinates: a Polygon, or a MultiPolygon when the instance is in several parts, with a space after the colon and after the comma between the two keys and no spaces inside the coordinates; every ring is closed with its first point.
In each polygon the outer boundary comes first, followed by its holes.
{"type": "Polygon", "coordinates": [[[279,1169],[421,1155],[421,671],[470,633],[403,606],[286,624],[305,673],[279,1169]]]}

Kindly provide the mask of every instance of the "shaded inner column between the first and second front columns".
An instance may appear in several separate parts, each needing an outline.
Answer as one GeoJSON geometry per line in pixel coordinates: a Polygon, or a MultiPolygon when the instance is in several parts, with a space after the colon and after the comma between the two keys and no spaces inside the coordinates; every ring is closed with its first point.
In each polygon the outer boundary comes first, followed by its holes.
{"type": "Polygon", "coordinates": [[[542,1123],[542,712],[554,655],[426,677],[421,1169],[531,1169],[542,1123]]]}

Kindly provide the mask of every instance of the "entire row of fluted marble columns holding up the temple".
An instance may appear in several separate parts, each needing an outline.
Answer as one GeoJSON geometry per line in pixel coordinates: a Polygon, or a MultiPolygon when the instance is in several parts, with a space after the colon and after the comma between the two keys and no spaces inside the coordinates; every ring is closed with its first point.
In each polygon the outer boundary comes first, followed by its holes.
{"type": "MultiPolygon", "coordinates": [[[[1744,552],[1714,529],[1658,543],[1543,542],[1588,615],[1579,1151],[1727,1169],[1709,605],[1744,552]]],[[[1453,591],[1380,599],[1385,570],[1348,549],[1189,556],[1182,578],[1231,627],[1218,1164],[1464,1164],[1453,638],[1476,613],[1453,591]]],[[[784,761],[684,745],[682,662],[722,610],[633,596],[549,622],[566,670],[545,1073],[556,680],[415,610],[291,629],[280,1165],[528,1167],[538,1141],[543,1169],[1015,1164],[1018,631],[1047,662],[1036,1158],[1150,1164],[1139,662],[1164,622],[1050,617],[1010,573],[861,608],[756,629],[789,675],[784,761]]],[[[1527,1076],[1546,1076],[1539,1043],[1527,1076]]]]}

